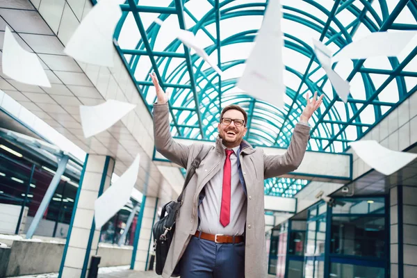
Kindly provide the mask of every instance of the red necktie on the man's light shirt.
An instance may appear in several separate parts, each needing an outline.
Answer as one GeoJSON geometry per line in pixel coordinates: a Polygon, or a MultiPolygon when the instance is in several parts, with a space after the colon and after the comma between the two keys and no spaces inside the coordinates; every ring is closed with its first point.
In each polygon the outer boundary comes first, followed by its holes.
{"type": "Polygon", "coordinates": [[[226,227],[230,222],[231,154],[233,154],[233,150],[226,149],[226,161],[224,161],[223,169],[222,207],[220,209],[220,223],[222,223],[223,227],[226,227]]]}

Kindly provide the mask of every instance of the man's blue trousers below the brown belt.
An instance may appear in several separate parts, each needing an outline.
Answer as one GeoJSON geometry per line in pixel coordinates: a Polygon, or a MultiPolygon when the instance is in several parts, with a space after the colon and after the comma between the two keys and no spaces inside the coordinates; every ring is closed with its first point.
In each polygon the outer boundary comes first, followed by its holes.
{"type": "Polygon", "coordinates": [[[214,243],[193,236],[179,263],[181,278],[243,278],[245,243],[214,243]]]}

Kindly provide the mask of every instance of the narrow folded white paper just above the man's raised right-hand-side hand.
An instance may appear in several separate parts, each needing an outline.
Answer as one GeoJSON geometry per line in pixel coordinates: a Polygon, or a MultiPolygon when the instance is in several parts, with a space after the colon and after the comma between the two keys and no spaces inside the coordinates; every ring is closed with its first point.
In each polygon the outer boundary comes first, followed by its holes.
{"type": "Polygon", "coordinates": [[[350,92],[349,82],[343,80],[341,76],[332,69],[332,53],[327,49],[325,44],[322,44],[322,42],[318,40],[313,40],[313,44],[314,53],[322,65],[323,70],[325,70],[327,77],[329,77],[330,83],[332,83],[337,95],[341,97],[344,103],[346,103],[347,96],[350,92]]]}

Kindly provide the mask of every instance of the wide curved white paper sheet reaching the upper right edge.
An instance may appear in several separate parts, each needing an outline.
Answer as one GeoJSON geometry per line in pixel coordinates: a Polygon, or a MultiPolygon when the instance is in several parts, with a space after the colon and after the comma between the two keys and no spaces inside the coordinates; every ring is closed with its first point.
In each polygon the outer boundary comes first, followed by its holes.
{"type": "MultiPolygon", "coordinates": [[[[404,56],[409,44],[416,47],[417,31],[375,32],[347,44],[332,57],[332,63],[343,59],[366,59],[376,56],[404,56]]],[[[414,48],[413,47],[413,48],[414,48]]]]}

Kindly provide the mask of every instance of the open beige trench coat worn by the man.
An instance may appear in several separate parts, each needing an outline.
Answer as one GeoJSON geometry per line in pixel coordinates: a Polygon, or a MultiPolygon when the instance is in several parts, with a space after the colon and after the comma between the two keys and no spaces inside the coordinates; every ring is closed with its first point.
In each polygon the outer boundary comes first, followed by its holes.
{"type": "MultiPolygon", "coordinates": [[[[188,169],[203,145],[181,145],[170,133],[168,104],[154,104],[155,147],[170,161],[188,169]]],[[[263,204],[263,180],[296,170],[300,165],[309,140],[310,128],[297,124],[291,144],[284,155],[267,156],[261,149],[245,147],[240,152],[240,163],[247,187],[247,216],[245,231],[245,277],[267,276],[265,246],[265,216],[263,204]]],[[[208,146],[204,146],[208,147],[208,146]]],[[[197,230],[197,203],[199,193],[206,183],[222,167],[225,159],[222,141],[218,138],[215,148],[199,165],[183,195],[183,205],[177,218],[176,230],[168,252],[162,277],[172,275],[175,266],[186,250],[188,242],[197,230]]]]}

